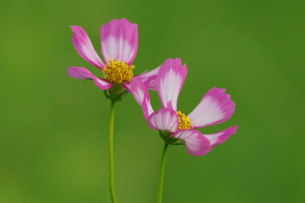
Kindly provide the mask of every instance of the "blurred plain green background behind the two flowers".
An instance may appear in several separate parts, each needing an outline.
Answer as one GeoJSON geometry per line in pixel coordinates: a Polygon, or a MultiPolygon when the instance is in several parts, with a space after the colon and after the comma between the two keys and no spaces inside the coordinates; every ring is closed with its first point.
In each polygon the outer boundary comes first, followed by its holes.
{"type": "MultiPolygon", "coordinates": [[[[101,72],[75,51],[69,25],[97,53],[99,28],[138,24],[136,75],[179,57],[188,75],[178,109],[188,114],[212,87],[236,103],[238,125],[195,157],[170,146],[163,202],[301,202],[304,161],[303,1],[2,1],[0,12],[0,203],[110,202],[110,100],[66,68],[101,72]]],[[[151,91],[154,109],[160,107],[151,91]]],[[[156,202],[163,141],[128,94],[114,129],[118,202],[156,202]]]]}

